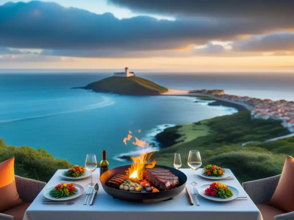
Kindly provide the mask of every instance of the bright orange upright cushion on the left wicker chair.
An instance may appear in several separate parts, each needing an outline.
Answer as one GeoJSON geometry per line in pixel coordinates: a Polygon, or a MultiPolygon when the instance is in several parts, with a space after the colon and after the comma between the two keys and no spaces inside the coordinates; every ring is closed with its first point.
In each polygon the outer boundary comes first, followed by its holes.
{"type": "Polygon", "coordinates": [[[23,203],[19,198],[14,179],[14,158],[0,163],[0,211],[23,203]]]}

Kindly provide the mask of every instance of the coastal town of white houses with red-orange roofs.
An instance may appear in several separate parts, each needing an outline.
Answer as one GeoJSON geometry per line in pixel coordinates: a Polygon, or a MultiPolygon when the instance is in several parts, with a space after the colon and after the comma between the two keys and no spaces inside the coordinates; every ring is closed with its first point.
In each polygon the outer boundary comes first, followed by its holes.
{"type": "Polygon", "coordinates": [[[294,101],[258,99],[228,94],[213,94],[213,97],[244,106],[252,118],[281,120],[281,125],[294,132],[294,101]]]}

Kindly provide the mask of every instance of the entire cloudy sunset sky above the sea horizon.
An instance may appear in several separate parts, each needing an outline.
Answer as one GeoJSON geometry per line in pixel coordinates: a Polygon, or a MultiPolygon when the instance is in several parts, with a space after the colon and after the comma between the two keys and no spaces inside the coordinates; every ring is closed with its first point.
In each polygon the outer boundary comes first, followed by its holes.
{"type": "Polygon", "coordinates": [[[294,72],[294,1],[0,0],[0,69],[294,72]]]}

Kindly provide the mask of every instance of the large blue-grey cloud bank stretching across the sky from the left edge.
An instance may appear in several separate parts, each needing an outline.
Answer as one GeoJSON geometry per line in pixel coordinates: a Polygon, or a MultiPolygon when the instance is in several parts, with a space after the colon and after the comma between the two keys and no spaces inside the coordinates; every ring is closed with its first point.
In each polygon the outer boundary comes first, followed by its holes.
{"type": "MultiPolygon", "coordinates": [[[[119,20],[55,3],[32,1],[0,6],[0,46],[67,50],[168,50],[210,40],[232,40],[283,27],[268,20],[138,16],[119,20]]],[[[111,51],[110,51],[111,52],[111,51]]],[[[110,53],[108,52],[108,53],[110,53]]],[[[91,52],[89,52],[91,53],[91,52]]],[[[56,54],[56,52],[55,52],[56,54]]]]}

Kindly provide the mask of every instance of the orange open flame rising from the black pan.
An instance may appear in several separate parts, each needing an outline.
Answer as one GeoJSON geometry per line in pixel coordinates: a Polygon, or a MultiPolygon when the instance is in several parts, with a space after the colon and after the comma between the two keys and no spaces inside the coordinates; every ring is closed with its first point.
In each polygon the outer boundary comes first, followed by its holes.
{"type": "MultiPolygon", "coordinates": [[[[138,133],[141,132],[141,129],[138,130],[138,133]]],[[[126,138],[123,138],[123,143],[127,145],[127,141],[130,141],[133,136],[131,135],[132,132],[129,131],[128,136],[126,138]]],[[[150,160],[152,154],[155,151],[146,153],[146,148],[148,148],[149,143],[146,143],[143,140],[138,139],[137,137],[134,137],[135,141],[133,142],[133,145],[137,145],[141,148],[143,148],[143,153],[138,157],[131,157],[133,160],[133,163],[131,164],[131,167],[126,170],[126,175],[128,175],[131,178],[137,178],[142,179],[144,168],[153,168],[155,166],[156,161],[153,160],[151,164],[148,164],[145,166],[146,163],[150,160]]]]}

